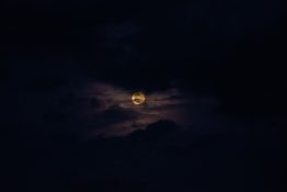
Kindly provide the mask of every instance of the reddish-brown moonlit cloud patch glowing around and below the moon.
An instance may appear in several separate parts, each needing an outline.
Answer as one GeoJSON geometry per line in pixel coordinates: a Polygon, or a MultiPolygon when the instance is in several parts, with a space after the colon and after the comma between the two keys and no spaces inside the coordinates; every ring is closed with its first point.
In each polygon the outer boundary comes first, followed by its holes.
{"type": "Polygon", "coordinates": [[[185,125],[183,114],[191,101],[179,89],[146,93],[147,101],[141,105],[133,104],[133,92],[108,83],[89,83],[80,94],[87,100],[95,100],[99,105],[85,109],[89,111],[84,112],[88,115],[85,120],[93,122],[87,129],[88,137],[125,135],[159,120],[171,120],[185,125]]]}

